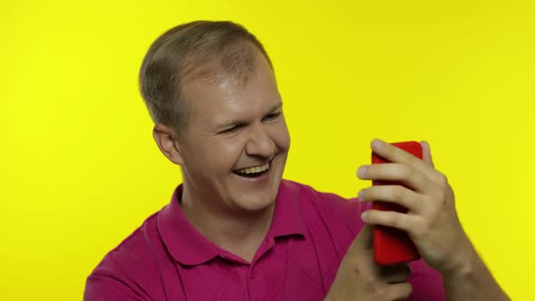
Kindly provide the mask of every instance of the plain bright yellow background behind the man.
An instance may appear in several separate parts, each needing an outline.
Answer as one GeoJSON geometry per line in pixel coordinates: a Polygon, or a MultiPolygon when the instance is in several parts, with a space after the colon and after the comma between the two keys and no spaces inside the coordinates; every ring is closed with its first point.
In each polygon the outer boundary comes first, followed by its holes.
{"type": "Polygon", "coordinates": [[[345,197],[369,142],[430,141],[462,222],[514,300],[535,300],[532,1],[3,1],[0,294],[81,299],[85,277],[168,203],[137,73],[195,19],[244,24],[285,100],[285,177],[345,197]]]}

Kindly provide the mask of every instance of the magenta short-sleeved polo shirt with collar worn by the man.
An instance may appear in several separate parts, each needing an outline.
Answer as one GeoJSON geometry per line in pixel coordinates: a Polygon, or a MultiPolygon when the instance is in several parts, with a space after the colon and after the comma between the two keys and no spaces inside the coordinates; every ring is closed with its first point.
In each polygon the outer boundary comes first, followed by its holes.
{"type": "MultiPolygon", "coordinates": [[[[268,234],[249,263],[193,228],[180,195],[181,186],[102,259],[87,278],[84,300],[323,300],[367,209],[282,180],[268,234]]],[[[445,300],[439,273],[422,260],[410,267],[408,300],[445,300]]]]}

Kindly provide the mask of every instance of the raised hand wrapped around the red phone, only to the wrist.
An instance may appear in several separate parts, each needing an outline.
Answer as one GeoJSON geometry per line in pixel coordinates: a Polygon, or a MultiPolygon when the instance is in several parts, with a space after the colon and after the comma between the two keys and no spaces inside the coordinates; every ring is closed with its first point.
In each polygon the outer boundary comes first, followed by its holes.
{"type": "Polygon", "coordinates": [[[441,273],[462,267],[470,259],[472,244],[464,233],[453,191],[446,177],[433,167],[431,151],[422,142],[423,160],[384,141],[372,142],[372,149],[392,163],[361,167],[364,180],[401,181],[399,185],[373,186],[359,193],[362,201],[394,202],[407,213],[369,210],[363,220],[373,225],[400,228],[413,239],[425,262],[441,273]]]}

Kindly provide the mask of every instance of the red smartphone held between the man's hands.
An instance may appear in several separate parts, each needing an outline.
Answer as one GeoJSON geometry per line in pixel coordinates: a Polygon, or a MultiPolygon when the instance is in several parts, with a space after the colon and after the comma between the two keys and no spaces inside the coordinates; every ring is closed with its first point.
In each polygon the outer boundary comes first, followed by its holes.
{"type": "MultiPolygon", "coordinates": [[[[410,152],[414,157],[422,159],[422,145],[417,141],[405,141],[392,143],[395,147],[410,152]]],[[[388,163],[388,160],[372,153],[372,164],[388,163]]],[[[373,185],[402,185],[402,182],[374,180],[373,185]]],[[[382,211],[406,212],[407,210],[394,203],[375,201],[372,209],[382,211]]],[[[420,258],[418,249],[406,232],[397,228],[374,226],[374,257],[380,265],[394,265],[413,261],[420,258]]]]}

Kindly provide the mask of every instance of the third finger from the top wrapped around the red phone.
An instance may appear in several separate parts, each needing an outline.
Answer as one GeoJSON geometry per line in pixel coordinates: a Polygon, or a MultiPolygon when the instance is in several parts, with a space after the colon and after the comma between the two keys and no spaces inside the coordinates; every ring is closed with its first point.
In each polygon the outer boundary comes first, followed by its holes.
{"type": "Polygon", "coordinates": [[[423,196],[400,185],[378,185],[362,189],[358,193],[361,201],[385,201],[403,206],[419,213],[423,208],[423,196]]]}

